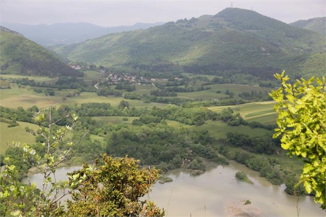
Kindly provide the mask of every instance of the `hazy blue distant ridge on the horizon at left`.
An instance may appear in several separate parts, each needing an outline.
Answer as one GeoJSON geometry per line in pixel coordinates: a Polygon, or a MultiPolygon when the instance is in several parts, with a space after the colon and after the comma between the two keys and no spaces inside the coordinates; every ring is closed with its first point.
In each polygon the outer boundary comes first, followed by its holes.
{"type": "Polygon", "coordinates": [[[57,44],[70,45],[109,33],[148,29],[162,24],[136,23],[132,26],[103,27],[90,23],[56,23],[52,25],[2,23],[2,26],[22,33],[37,44],[51,46],[57,44]]]}

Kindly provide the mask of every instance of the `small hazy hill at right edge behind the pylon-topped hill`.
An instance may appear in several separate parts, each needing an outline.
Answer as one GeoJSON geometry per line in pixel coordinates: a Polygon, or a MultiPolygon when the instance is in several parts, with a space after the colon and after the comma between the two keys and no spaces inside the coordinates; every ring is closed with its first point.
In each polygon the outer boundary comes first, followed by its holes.
{"type": "Polygon", "coordinates": [[[316,17],[307,20],[296,21],[291,26],[309,29],[320,34],[326,35],[326,17],[316,17]]]}

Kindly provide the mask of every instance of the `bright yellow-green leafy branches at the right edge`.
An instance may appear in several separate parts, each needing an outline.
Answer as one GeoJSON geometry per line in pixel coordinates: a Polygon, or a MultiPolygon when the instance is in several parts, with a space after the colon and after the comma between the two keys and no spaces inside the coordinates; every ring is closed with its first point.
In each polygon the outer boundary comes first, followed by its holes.
{"type": "Polygon", "coordinates": [[[308,193],[315,192],[315,202],[325,209],[326,173],[326,83],[325,77],[301,78],[295,84],[289,77],[276,74],[282,87],[272,91],[279,113],[274,137],[281,137],[281,146],[289,155],[297,155],[305,162],[299,183],[308,193]],[[316,85],[315,85],[316,83],[316,85]]]}

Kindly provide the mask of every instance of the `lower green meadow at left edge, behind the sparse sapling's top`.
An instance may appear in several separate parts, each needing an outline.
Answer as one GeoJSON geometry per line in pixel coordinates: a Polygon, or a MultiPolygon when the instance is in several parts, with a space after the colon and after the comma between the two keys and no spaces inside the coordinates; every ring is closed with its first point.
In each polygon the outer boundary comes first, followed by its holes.
{"type": "Polygon", "coordinates": [[[20,142],[21,144],[35,143],[35,136],[32,133],[26,132],[25,127],[29,127],[36,131],[39,126],[26,122],[18,122],[18,126],[7,127],[9,124],[0,122],[0,154],[4,154],[8,144],[12,142],[20,142]]]}

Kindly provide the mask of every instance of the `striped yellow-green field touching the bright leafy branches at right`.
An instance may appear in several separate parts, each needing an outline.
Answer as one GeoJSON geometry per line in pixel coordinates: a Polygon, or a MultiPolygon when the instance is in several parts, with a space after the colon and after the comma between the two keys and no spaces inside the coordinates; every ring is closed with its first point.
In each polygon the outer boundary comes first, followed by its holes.
{"type": "Polygon", "coordinates": [[[277,113],[274,111],[274,101],[247,103],[236,106],[209,107],[210,110],[219,112],[224,108],[232,108],[234,112],[239,112],[246,121],[258,121],[263,124],[274,124],[277,113]]]}

